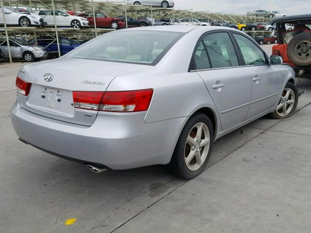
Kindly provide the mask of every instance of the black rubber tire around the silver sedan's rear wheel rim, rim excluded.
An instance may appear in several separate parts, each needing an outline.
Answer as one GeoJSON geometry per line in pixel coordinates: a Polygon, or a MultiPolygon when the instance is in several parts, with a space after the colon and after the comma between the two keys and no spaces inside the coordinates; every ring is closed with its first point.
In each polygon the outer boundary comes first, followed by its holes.
{"type": "Polygon", "coordinates": [[[178,138],[175,150],[173,152],[172,159],[170,163],[168,164],[168,168],[173,174],[176,176],[190,180],[196,176],[198,176],[201,172],[203,172],[206,169],[211,151],[212,151],[212,146],[213,146],[213,141],[214,141],[214,135],[213,135],[213,126],[209,118],[203,114],[203,113],[195,113],[192,115],[187,123],[185,124],[182,132],[180,133],[180,136],[178,138]],[[208,131],[209,131],[209,138],[210,138],[210,143],[209,143],[209,149],[207,153],[207,158],[202,164],[202,166],[195,170],[191,171],[185,163],[185,145],[186,145],[186,140],[188,137],[188,134],[190,133],[191,129],[199,122],[203,122],[207,125],[208,131]]]}

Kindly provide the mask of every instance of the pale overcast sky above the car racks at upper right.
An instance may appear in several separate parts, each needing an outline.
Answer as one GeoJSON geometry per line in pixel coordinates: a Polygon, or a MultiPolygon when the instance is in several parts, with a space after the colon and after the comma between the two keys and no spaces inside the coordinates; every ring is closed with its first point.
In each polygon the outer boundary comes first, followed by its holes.
{"type": "Polygon", "coordinates": [[[279,11],[286,15],[311,14],[311,0],[174,0],[175,9],[244,15],[248,11],[279,11]]]}

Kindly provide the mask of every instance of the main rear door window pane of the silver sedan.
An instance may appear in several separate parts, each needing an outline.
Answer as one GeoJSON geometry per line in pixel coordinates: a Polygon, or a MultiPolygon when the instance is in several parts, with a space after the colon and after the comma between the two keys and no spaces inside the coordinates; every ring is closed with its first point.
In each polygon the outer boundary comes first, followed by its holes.
{"type": "Polygon", "coordinates": [[[237,54],[228,33],[212,33],[203,38],[212,68],[239,66],[237,54]]]}

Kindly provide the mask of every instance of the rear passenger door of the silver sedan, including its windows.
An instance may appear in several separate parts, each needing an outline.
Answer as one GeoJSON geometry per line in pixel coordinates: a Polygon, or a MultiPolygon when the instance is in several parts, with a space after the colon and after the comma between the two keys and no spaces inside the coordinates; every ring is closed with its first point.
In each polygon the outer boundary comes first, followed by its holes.
{"type": "Polygon", "coordinates": [[[203,35],[193,62],[216,105],[222,129],[242,123],[247,115],[252,83],[250,74],[240,67],[242,61],[229,33],[220,30],[203,35]]]}

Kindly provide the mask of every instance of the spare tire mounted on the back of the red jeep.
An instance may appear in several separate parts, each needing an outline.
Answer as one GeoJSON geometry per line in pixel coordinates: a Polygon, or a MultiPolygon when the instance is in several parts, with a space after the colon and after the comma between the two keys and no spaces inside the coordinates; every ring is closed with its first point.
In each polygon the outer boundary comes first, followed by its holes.
{"type": "Polygon", "coordinates": [[[287,46],[288,58],[297,66],[311,65],[311,33],[295,35],[287,46]]]}

